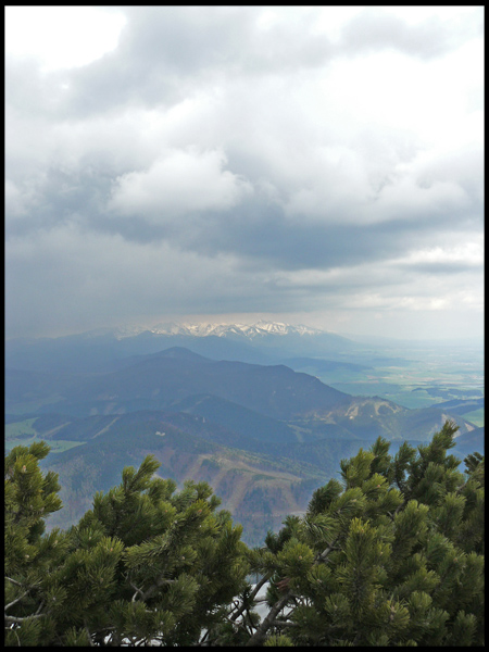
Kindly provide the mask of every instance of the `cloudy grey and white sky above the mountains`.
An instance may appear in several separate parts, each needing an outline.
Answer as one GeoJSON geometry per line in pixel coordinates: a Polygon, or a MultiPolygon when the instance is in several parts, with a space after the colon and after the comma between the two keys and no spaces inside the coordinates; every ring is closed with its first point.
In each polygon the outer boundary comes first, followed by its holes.
{"type": "Polygon", "coordinates": [[[482,7],[7,7],[5,337],[484,337],[482,7]]]}

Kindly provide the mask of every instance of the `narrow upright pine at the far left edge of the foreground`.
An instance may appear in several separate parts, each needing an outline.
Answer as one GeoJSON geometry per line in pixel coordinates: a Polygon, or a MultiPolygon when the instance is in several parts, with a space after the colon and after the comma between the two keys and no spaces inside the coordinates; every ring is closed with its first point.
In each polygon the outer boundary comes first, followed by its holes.
{"type": "Polygon", "coordinates": [[[48,453],[45,442],[35,442],[5,457],[5,644],[37,645],[50,638],[50,606],[64,598],[57,582],[46,585],[67,547],[58,529],[43,536],[45,518],[62,506],[55,474],[42,475],[38,466],[48,453]]]}

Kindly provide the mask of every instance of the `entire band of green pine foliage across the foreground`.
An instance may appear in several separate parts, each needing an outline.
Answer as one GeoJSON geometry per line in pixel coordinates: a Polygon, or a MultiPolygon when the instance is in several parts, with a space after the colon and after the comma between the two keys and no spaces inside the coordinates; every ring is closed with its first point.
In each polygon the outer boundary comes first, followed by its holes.
{"type": "Polygon", "coordinates": [[[456,427],[396,455],[378,438],[249,550],[205,482],[149,455],[67,531],[49,448],[5,457],[8,645],[482,645],[484,456],[456,427]],[[258,574],[254,586],[249,573],[258,574]],[[266,612],[258,613],[260,589],[266,612]]]}

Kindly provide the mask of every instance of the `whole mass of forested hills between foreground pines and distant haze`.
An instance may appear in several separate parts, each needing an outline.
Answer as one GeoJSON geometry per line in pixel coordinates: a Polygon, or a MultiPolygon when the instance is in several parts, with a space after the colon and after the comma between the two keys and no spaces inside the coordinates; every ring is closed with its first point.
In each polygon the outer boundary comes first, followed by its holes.
{"type": "Polygon", "coordinates": [[[65,510],[51,526],[76,522],[95,491],[151,452],[165,477],[210,481],[256,544],[287,513],[305,510],[341,459],[379,435],[396,451],[453,419],[462,457],[484,439],[449,410],[408,410],[285,365],[213,361],[178,347],[104,373],[8,369],[5,403],[9,448],[33,439],[52,446],[42,465],[60,475],[65,510]]]}

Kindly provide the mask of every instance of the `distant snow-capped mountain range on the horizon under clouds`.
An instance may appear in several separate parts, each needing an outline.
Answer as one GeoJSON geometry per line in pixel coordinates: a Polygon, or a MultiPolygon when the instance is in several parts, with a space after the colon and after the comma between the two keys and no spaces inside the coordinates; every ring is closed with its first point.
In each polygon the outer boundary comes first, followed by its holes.
{"type": "Polygon", "coordinates": [[[155,324],[154,326],[122,326],[115,330],[117,339],[134,337],[143,331],[155,335],[186,335],[192,337],[217,337],[241,336],[248,339],[263,337],[266,335],[322,335],[325,330],[311,328],[310,326],[291,326],[280,322],[258,322],[256,324],[155,324]]]}

